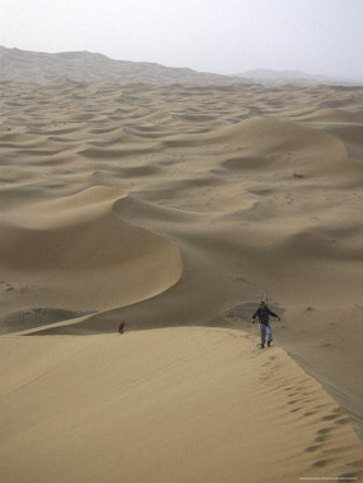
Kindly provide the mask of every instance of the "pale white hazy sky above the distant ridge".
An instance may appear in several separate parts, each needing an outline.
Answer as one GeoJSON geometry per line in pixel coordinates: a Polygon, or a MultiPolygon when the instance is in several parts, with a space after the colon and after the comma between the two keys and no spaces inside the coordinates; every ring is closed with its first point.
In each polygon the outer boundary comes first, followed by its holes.
{"type": "Polygon", "coordinates": [[[363,80],[363,0],[0,0],[0,44],[363,80]]]}

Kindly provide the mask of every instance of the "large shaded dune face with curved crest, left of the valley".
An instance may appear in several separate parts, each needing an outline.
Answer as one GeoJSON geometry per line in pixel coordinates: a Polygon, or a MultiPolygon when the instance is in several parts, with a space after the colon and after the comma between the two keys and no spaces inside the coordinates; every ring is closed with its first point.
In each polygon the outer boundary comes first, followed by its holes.
{"type": "Polygon", "coordinates": [[[6,218],[3,272],[32,280],[38,306],[96,311],[163,292],[180,277],[179,251],[122,220],[113,209],[122,197],[120,190],[93,187],[6,218]]]}

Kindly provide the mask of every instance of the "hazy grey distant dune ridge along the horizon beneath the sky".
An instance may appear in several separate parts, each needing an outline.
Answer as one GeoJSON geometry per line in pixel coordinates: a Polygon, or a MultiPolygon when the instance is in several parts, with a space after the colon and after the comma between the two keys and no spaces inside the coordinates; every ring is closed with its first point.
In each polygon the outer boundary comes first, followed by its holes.
{"type": "Polygon", "coordinates": [[[0,46],[0,82],[43,83],[66,78],[83,83],[117,82],[148,84],[249,84],[362,85],[363,81],[310,75],[300,71],[256,69],[237,75],[218,75],[191,69],[167,67],[157,63],[116,61],[100,53],[40,53],[0,46]]]}

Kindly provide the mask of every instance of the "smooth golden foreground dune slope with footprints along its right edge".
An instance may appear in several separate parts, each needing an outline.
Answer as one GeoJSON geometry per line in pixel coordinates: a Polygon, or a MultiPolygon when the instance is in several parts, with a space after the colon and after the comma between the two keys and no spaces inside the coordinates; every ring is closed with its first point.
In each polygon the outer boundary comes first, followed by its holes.
{"type": "Polygon", "coordinates": [[[241,332],[7,336],[1,358],[9,483],[362,476],[362,444],[336,403],[241,332]]]}

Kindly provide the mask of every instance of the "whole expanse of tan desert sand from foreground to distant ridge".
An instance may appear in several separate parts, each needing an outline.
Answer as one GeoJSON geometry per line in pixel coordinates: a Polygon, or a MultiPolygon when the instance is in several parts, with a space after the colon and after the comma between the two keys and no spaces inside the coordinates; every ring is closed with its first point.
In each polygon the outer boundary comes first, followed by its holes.
{"type": "Polygon", "coordinates": [[[1,82],[1,481],[362,479],[363,88],[54,76],[1,82]]]}

